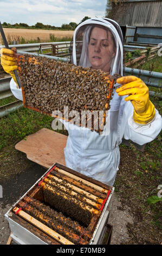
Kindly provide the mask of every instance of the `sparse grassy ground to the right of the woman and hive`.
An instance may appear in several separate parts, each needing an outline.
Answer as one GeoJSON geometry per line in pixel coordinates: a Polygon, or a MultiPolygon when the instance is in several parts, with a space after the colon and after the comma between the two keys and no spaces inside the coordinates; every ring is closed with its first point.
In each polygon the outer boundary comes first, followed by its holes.
{"type": "MultiPolygon", "coordinates": [[[[162,101],[150,97],[162,114],[162,101]]],[[[135,217],[134,225],[129,225],[130,243],[159,243],[161,223],[161,202],[149,205],[147,199],[157,196],[161,184],[161,141],[162,131],[141,152],[120,144],[121,163],[115,180],[115,191],[122,205],[128,205],[135,217]],[[154,238],[150,234],[155,234],[154,238]],[[138,237],[138,239],[137,239],[138,237]]],[[[159,200],[160,201],[160,200],[159,200]]]]}

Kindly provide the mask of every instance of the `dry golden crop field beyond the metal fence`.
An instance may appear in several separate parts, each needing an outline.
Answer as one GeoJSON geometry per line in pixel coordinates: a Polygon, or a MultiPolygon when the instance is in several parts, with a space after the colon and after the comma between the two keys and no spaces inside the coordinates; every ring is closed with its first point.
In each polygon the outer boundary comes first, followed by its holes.
{"type": "Polygon", "coordinates": [[[24,38],[25,40],[35,40],[39,38],[46,42],[50,34],[56,38],[69,38],[73,36],[74,31],[54,31],[43,29],[21,29],[21,28],[3,28],[7,39],[17,40],[17,38],[24,38]]]}

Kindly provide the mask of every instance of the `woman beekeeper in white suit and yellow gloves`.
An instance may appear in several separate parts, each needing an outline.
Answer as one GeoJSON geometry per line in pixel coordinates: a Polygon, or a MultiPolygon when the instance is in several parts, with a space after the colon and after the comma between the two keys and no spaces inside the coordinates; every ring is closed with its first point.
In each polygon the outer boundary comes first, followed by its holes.
{"type": "MultiPolygon", "coordinates": [[[[122,76],[122,45],[118,23],[103,18],[89,19],[75,29],[71,60],[75,65],[122,76]]],[[[1,64],[11,73],[17,66],[15,58],[8,59],[3,54],[8,51],[11,50],[1,50],[1,64]]],[[[21,89],[17,88],[13,74],[12,77],[10,88],[22,100],[21,89]]],[[[66,166],[109,185],[114,184],[118,171],[122,138],[142,145],[151,142],[162,126],[161,116],[149,100],[148,88],[140,78],[126,76],[118,78],[117,82],[101,135],[62,120],[69,133],[64,149],[66,166]]]]}

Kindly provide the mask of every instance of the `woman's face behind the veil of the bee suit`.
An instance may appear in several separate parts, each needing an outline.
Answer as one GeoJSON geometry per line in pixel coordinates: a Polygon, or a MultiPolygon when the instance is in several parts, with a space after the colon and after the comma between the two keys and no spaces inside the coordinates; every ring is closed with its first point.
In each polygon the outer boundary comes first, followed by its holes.
{"type": "Polygon", "coordinates": [[[94,27],[88,45],[88,58],[92,68],[109,72],[114,56],[115,47],[111,32],[94,27]]]}

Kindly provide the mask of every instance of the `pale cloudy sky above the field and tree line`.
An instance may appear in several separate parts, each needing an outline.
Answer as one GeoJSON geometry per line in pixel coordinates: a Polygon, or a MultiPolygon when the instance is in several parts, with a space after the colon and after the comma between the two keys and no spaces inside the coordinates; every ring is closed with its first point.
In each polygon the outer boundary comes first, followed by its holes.
{"type": "Polygon", "coordinates": [[[61,27],[83,17],[104,17],[107,0],[0,0],[0,21],[61,27]]]}

